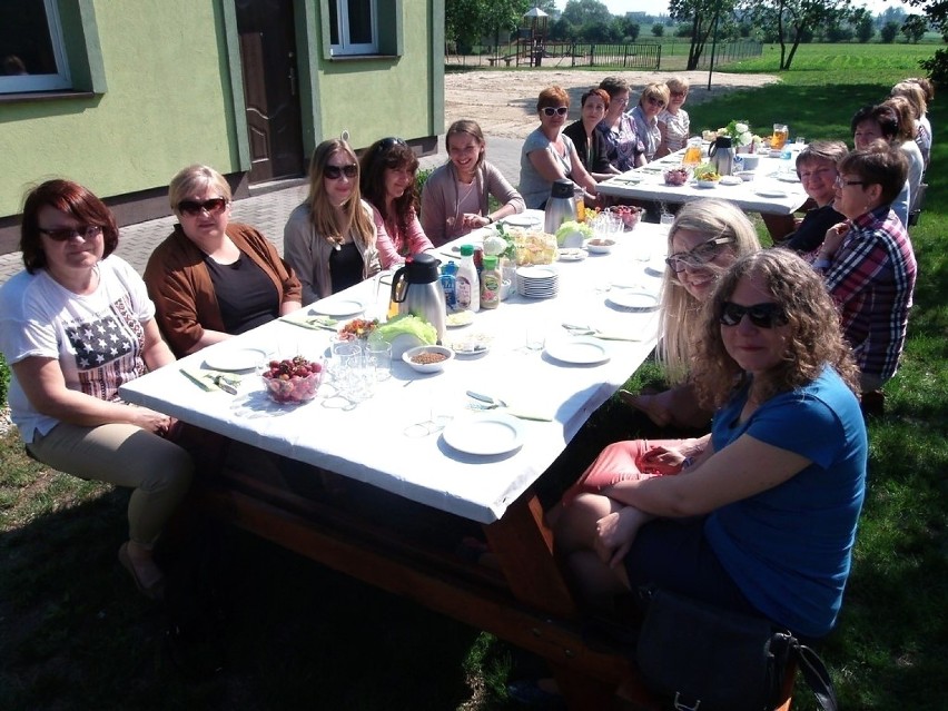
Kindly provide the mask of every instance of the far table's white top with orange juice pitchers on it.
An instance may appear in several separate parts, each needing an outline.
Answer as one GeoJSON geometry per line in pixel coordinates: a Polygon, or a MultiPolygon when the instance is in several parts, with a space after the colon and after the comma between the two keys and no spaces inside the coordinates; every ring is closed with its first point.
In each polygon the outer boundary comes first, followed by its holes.
{"type": "Polygon", "coordinates": [[[665,185],[664,171],[681,165],[683,151],[665,156],[642,168],[629,170],[596,186],[602,195],[618,198],[654,200],[658,203],[689,203],[713,197],[730,200],[748,213],[791,215],[807,201],[807,194],[796,172],[796,154],[790,161],[759,155],[760,165],[753,180],[738,185],[702,188],[690,180],[681,186],[665,185]],[[789,165],[788,165],[789,162],[789,165]],[[788,167],[792,171],[788,171],[788,167]]]}

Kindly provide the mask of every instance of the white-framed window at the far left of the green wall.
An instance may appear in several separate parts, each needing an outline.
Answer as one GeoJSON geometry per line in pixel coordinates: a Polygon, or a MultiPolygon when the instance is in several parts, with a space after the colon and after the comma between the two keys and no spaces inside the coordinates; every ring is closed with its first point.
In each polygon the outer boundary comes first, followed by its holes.
{"type": "Polygon", "coordinates": [[[0,93],[71,86],[56,0],[0,2],[0,93]]]}

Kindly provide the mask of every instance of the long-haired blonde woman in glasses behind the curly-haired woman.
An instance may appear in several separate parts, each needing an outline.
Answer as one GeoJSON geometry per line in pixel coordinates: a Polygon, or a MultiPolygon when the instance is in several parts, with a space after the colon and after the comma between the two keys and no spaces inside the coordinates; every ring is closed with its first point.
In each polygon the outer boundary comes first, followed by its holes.
{"type": "Polygon", "coordinates": [[[634,395],[620,391],[628,405],[659,427],[701,428],[711,411],[702,407],[690,378],[693,340],[701,306],[735,259],[758,251],[757,230],[732,203],[708,198],[687,203],[669,229],[669,254],[662,283],[659,362],[671,389],[634,395]]]}

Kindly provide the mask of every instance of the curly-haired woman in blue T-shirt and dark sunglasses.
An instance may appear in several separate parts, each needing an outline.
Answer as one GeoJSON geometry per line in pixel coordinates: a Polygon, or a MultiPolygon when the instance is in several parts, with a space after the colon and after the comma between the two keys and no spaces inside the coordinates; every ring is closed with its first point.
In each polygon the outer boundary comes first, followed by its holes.
{"type": "Polygon", "coordinates": [[[584,475],[600,493],[557,519],[560,550],[603,605],[651,584],[821,636],[865,494],[858,371],[820,277],[788,250],[739,259],[704,316],[693,376],[719,407],[711,434],[606,447],[584,475]]]}

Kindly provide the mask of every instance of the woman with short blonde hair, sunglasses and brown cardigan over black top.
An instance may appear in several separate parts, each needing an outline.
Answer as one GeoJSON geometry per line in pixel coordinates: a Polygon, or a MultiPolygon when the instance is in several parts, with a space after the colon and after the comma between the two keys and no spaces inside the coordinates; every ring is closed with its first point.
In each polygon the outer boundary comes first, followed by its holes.
{"type": "Polygon", "coordinates": [[[230,186],[189,166],[168,188],[178,224],[151,253],[145,283],[178,357],[300,307],[299,282],[249,225],[230,223],[230,186]]]}

